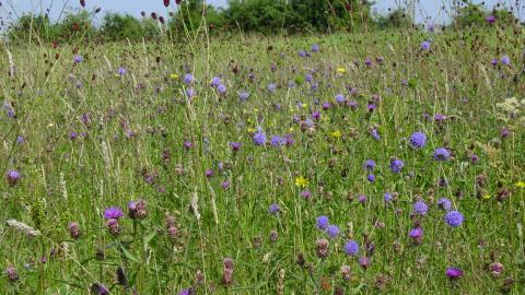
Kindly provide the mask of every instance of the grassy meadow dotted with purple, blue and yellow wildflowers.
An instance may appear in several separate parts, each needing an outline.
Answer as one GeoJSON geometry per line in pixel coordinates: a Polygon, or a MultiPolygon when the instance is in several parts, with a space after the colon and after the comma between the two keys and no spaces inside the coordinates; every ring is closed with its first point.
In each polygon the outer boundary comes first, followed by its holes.
{"type": "Polygon", "coordinates": [[[0,293],[523,294],[524,36],[2,45],[0,293]]]}

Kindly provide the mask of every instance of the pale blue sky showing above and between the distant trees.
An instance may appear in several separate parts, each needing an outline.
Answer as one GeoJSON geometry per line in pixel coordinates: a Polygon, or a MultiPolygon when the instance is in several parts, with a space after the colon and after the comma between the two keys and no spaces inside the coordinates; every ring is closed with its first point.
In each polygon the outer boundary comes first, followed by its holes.
{"type": "MultiPolygon", "coordinates": [[[[1,0],[0,0],[1,1],[1,0]]],[[[324,0],[319,0],[324,1],[324,0]]],[[[44,9],[51,7],[51,19],[57,17],[65,3],[68,8],[79,8],[79,0],[3,0],[3,7],[0,8],[0,15],[8,16],[7,11],[16,11],[18,14],[23,12],[40,12],[44,9]],[[11,5],[12,4],[12,5],[11,5]]],[[[135,16],[139,16],[141,11],[149,13],[158,12],[159,14],[165,14],[166,9],[163,5],[162,0],[85,0],[88,8],[101,7],[103,12],[121,12],[129,13],[135,16]]],[[[172,2],[175,2],[172,0],[172,2]]],[[[208,0],[207,2],[215,7],[225,7],[228,0],[208,0]]],[[[378,13],[387,13],[388,8],[397,8],[399,3],[407,2],[406,0],[376,0],[376,4],[373,7],[378,13]]],[[[419,4],[416,8],[417,21],[423,22],[425,17],[430,17],[435,23],[446,23],[448,20],[445,12],[440,10],[443,3],[450,3],[451,0],[419,0],[419,4]]],[[[491,9],[498,2],[513,3],[514,0],[479,0],[472,1],[475,3],[485,2],[487,9],[491,9]]],[[[523,8],[525,11],[525,8],[523,8]]],[[[524,19],[522,13],[521,19],[524,19]]]]}

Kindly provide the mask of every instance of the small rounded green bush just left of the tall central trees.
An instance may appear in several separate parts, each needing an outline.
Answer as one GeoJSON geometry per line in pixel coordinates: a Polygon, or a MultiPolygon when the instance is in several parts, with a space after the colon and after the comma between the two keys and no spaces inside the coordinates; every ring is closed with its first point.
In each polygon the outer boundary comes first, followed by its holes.
{"type": "Polygon", "coordinates": [[[106,14],[104,16],[102,32],[104,32],[108,40],[141,40],[144,36],[141,22],[129,14],[106,14]]]}

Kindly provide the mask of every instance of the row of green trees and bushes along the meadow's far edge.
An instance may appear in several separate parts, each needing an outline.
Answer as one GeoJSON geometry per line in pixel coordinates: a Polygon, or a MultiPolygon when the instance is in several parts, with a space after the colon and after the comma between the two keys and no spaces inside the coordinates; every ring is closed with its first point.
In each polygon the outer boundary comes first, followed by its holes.
{"type": "MultiPolygon", "coordinates": [[[[386,15],[376,14],[372,12],[373,2],[363,0],[230,0],[225,9],[206,4],[203,0],[178,2],[177,10],[170,12],[166,19],[155,12],[142,12],[139,19],[106,13],[98,25],[94,20],[101,9],[70,11],[54,23],[47,14],[25,14],[9,25],[5,35],[12,42],[38,38],[39,42],[59,43],[74,37],[138,42],[184,37],[202,28],[210,35],[222,32],[269,35],[417,27],[405,9],[388,10],[386,15]]],[[[481,4],[465,1],[464,5],[456,8],[448,26],[485,27],[493,22],[521,24],[512,9],[498,4],[487,11],[481,4]]]]}

